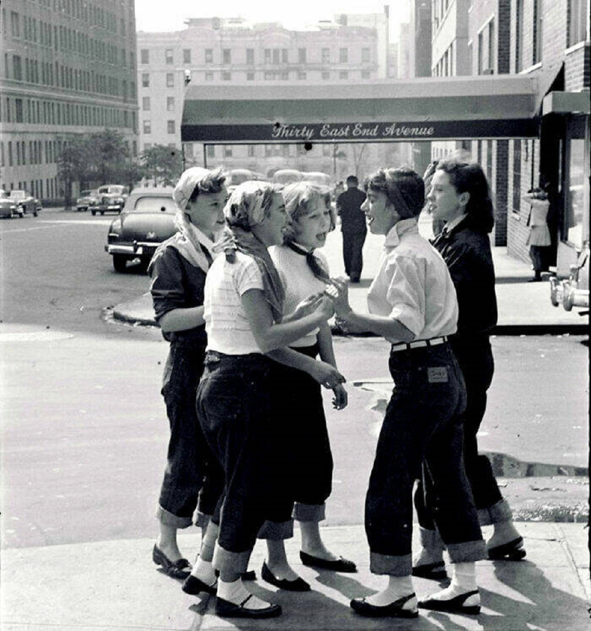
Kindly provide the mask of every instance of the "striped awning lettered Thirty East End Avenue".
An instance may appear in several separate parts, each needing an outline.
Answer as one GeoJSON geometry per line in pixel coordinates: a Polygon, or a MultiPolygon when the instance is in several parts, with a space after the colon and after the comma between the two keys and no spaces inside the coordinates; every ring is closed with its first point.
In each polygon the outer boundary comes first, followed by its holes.
{"type": "Polygon", "coordinates": [[[344,85],[189,85],[183,142],[302,143],[535,138],[537,75],[344,85]]]}

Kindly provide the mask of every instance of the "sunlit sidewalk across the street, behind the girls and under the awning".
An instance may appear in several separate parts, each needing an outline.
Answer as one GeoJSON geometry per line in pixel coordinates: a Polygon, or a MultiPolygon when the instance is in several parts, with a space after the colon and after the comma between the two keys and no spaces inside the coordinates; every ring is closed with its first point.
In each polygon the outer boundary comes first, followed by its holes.
{"type": "MultiPolygon", "coordinates": [[[[340,232],[330,233],[323,250],[333,276],[343,274],[340,238],[340,232]]],[[[383,237],[379,235],[367,235],[362,280],[359,285],[349,286],[350,303],[355,310],[367,312],[367,289],[379,266],[382,241],[383,237]]],[[[496,334],[587,333],[588,316],[579,315],[581,309],[575,307],[568,312],[562,307],[551,305],[548,280],[528,282],[532,277],[529,264],[508,256],[506,247],[493,247],[493,260],[498,302],[496,334]]],[[[130,302],[116,305],[113,317],[123,322],[155,324],[149,292],[130,302]]]]}

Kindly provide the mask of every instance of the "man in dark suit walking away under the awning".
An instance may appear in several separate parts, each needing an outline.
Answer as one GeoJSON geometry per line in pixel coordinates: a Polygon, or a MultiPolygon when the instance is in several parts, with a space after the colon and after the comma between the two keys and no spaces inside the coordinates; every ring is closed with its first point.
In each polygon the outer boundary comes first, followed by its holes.
{"type": "Polygon", "coordinates": [[[343,233],[343,261],[345,274],[352,283],[359,283],[363,268],[363,244],[367,234],[365,214],[361,204],[365,201],[365,193],[357,188],[359,180],[355,175],[347,178],[347,191],[336,198],[336,212],[341,218],[343,233]]]}

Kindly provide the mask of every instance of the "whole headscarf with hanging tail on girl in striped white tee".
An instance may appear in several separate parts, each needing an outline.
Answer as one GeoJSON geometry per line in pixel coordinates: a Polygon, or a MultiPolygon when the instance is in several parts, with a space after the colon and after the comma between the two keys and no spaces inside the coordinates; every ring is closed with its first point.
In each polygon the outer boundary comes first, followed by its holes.
{"type": "Polygon", "coordinates": [[[267,182],[239,184],[224,207],[226,228],[215,244],[215,251],[223,250],[229,262],[236,260],[237,250],[255,259],[263,277],[263,295],[275,322],[280,322],[283,317],[285,292],[267,246],[256,238],[252,228],[265,219],[273,195],[278,193],[278,189],[267,182]]]}

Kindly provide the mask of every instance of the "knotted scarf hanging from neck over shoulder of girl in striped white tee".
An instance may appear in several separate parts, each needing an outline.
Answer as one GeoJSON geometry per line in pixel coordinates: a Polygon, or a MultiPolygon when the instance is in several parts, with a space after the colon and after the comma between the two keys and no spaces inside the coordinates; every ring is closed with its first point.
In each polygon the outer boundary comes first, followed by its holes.
{"type": "Polygon", "coordinates": [[[236,260],[236,251],[247,254],[255,259],[263,276],[263,295],[271,306],[273,321],[280,322],[283,317],[283,303],[285,291],[277,268],[273,264],[267,246],[258,240],[250,230],[244,230],[239,226],[224,228],[222,237],[215,244],[214,251],[224,251],[226,261],[233,263],[236,260]]]}

